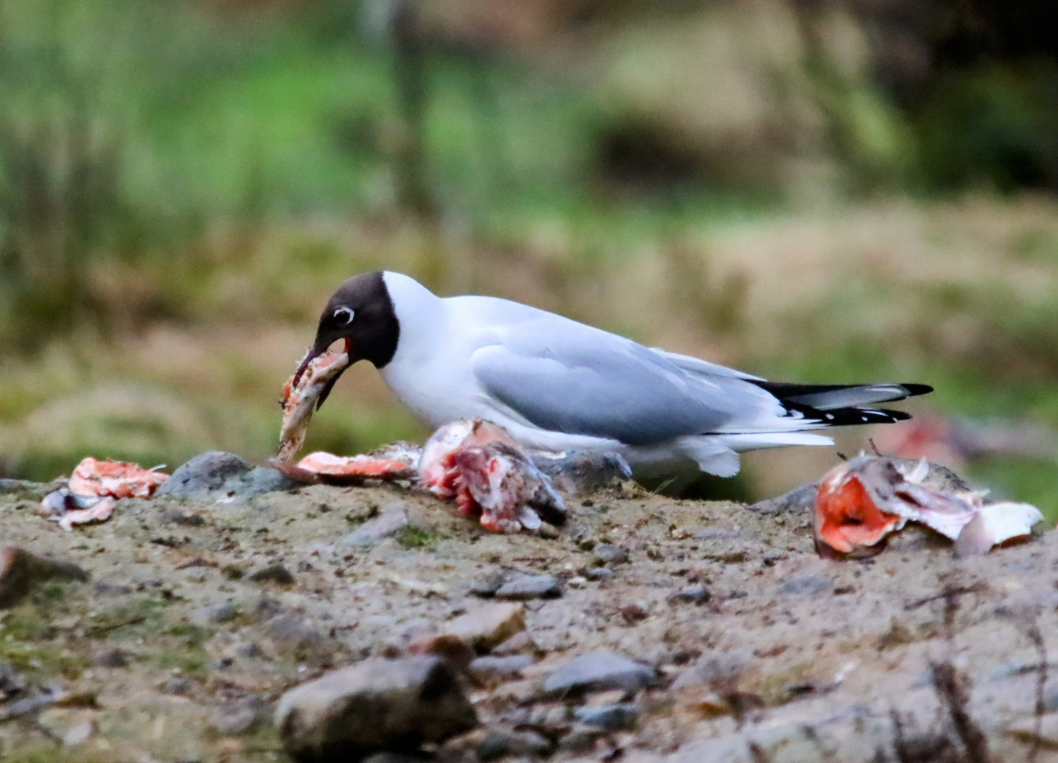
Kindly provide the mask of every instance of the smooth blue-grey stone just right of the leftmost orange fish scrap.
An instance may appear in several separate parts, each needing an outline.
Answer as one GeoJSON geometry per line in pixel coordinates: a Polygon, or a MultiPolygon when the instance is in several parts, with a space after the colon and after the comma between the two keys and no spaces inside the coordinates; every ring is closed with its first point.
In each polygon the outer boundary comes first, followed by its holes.
{"type": "Polygon", "coordinates": [[[300,487],[275,469],[254,467],[241,456],[223,451],[200,453],[179,467],[158,495],[193,501],[244,501],[274,492],[300,487]]]}

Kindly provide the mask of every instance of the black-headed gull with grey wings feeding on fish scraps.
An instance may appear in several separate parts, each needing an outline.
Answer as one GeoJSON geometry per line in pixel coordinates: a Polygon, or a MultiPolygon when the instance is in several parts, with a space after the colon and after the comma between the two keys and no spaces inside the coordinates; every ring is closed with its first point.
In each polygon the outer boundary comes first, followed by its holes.
{"type": "Polygon", "coordinates": [[[932,392],[768,382],[516,302],[439,297],[389,271],[334,292],[302,369],[335,342],[432,426],[486,419],[530,449],[617,452],[637,474],[696,464],[732,476],[740,451],[832,444],[811,431],[899,421],[908,414],[863,406],[932,392]]]}

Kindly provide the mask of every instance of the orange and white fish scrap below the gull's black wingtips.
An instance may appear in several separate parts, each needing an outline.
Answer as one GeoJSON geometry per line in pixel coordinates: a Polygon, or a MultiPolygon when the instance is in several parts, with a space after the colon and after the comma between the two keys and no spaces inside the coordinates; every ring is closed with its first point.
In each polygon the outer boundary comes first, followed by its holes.
{"type": "Polygon", "coordinates": [[[831,470],[816,496],[816,550],[827,558],[879,553],[886,540],[917,522],[955,542],[959,556],[987,553],[993,546],[1032,533],[1043,520],[1035,506],[986,504],[973,490],[924,484],[930,466],[861,455],[831,470]]]}

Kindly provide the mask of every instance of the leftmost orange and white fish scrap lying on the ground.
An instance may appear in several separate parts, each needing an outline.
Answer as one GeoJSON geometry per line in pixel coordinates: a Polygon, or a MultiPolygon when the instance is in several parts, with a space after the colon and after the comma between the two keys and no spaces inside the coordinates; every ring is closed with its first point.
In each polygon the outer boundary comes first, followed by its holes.
{"type": "Polygon", "coordinates": [[[114,512],[118,498],[150,497],[169,478],[159,469],[161,467],[144,469],[138,464],[89,456],[74,468],[68,487],[43,497],[39,512],[58,522],[67,532],[73,530],[74,525],[106,522],[114,512]]]}

